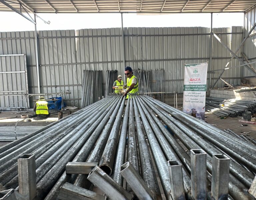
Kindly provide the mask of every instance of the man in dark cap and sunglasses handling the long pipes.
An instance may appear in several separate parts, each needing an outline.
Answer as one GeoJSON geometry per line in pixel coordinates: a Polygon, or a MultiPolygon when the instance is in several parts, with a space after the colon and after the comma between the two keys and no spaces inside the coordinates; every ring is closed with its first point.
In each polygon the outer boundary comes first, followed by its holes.
{"type": "Polygon", "coordinates": [[[126,95],[126,99],[128,99],[129,95],[134,95],[139,92],[139,82],[138,79],[133,75],[131,67],[126,67],[124,69],[124,74],[127,78],[124,88],[127,88],[127,90],[123,96],[126,95]]]}

